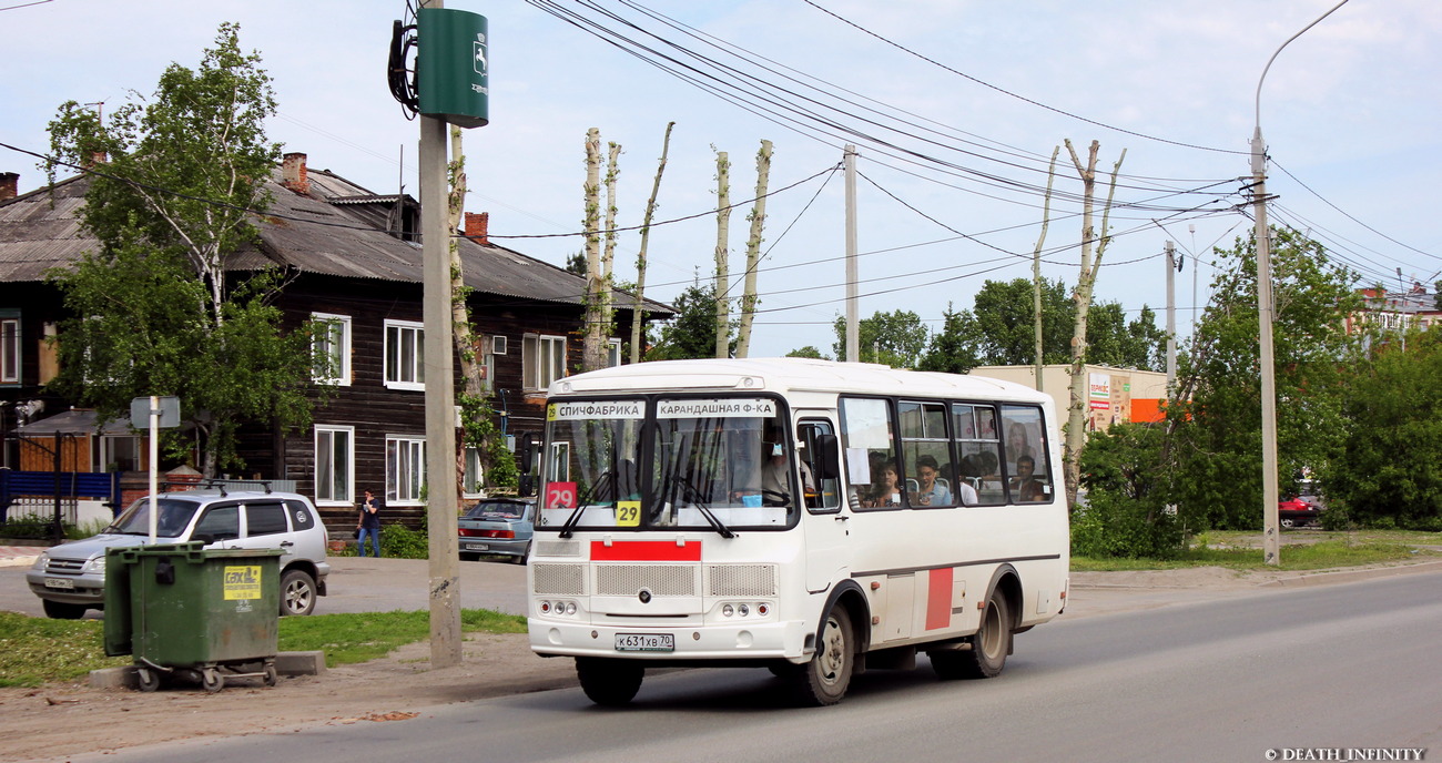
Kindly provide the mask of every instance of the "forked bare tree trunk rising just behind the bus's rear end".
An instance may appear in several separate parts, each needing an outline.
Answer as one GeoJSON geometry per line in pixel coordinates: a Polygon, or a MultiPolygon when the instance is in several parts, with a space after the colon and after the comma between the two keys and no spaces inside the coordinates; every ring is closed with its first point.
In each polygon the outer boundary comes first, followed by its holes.
{"type": "Polygon", "coordinates": [[[1083,167],[1082,160],[1077,159],[1076,149],[1071,147],[1071,141],[1067,140],[1064,143],[1067,146],[1067,151],[1071,154],[1071,163],[1076,164],[1077,173],[1082,176],[1084,195],[1082,202],[1082,271],[1077,275],[1076,291],[1071,293],[1071,299],[1076,304],[1076,326],[1071,333],[1071,397],[1070,405],[1067,407],[1066,453],[1063,454],[1067,505],[1074,505],[1077,498],[1077,485],[1082,479],[1082,447],[1086,444],[1086,410],[1089,398],[1089,384],[1086,375],[1087,312],[1092,307],[1092,291],[1096,286],[1096,271],[1102,264],[1102,254],[1106,251],[1106,245],[1110,241],[1106,235],[1107,218],[1112,212],[1112,198],[1116,195],[1116,175],[1120,172],[1122,162],[1126,159],[1126,149],[1122,149],[1122,156],[1118,157],[1116,164],[1112,167],[1112,188],[1106,196],[1106,206],[1103,206],[1102,211],[1102,235],[1099,239],[1096,231],[1092,228],[1092,203],[1096,195],[1096,151],[1102,147],[1102,144],[1094,140],[1092,141],[1087,164],[1083,167]],[[1099,241],[1094,263],[1092,260],[1093,241],[1099,241]]]}

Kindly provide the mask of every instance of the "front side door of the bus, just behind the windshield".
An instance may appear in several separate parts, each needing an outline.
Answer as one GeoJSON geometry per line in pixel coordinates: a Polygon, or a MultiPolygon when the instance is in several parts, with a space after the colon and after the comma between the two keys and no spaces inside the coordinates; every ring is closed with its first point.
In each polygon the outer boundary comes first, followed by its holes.
{"type": "Polygon", "coordinates": [[[806,590],[820,593],[851,574],[851,509],[842,490],[836,425],[826,418],[802,418],[796,425],[796,441],[802,473],[810,470],[815,482],[815,492],[806,496],[806,512],[802,515],[806,590]]]}

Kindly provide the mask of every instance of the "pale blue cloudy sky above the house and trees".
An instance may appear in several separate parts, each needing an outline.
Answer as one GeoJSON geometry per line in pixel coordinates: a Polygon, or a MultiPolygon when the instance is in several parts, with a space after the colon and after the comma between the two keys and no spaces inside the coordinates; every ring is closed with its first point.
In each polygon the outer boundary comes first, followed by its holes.
{"type": "MultiPolygon", "coordinates": [[[[1094,140],[1097,225],[1122,160],[1096,299],[1133,317],[1149,306],[1165,326],[1172,241],[1185,338],[1210,294],[1211,248],[1250,231],[1260,124],[1273,225],[1321,241],[1358,286],[1417,280],[1430,291],[1442,271],[1429,190],[1442,176],[1442,4],[1350,0],[1288,42],[1334,6],[447,0],[486,16],[490,38],[490,124],[464,134],[466,211],[490,213],[495,242],[564,265],[583,247],[587,130],[622,146],[617,226],[636,228],[673,121],[646,296],[673,300],[715,271],[717,151],[737,203],[727,250],[738,288],[754,157],[770,140],[751,356],[808,345],[832,355],[846,296],[846,144],[859,316],[910,310],[940,330],[986,280],[1031,277],[1044,219],[1043,275],[1077,281],[1082,182],[1061,146],[1084,163],[1094,140]],[[712,79],[707,61],[740,79],[712,79]]],[[[405,16],[404,0],[0,0],[0,172],[20,173],[20,192],[39,188],[37,160],[14,149],[45,153],[62,102],[112,110],[150,95],[166,66],[195,68],[216,27],[236,22],[242,49],[274,78],[271,140],[376,193],[418,195],[418,123],[385,84],[392,22],[405,16]]],[[[639,247],[636,231],[617,235],[617,278],[634,280],[639,247]]]]}

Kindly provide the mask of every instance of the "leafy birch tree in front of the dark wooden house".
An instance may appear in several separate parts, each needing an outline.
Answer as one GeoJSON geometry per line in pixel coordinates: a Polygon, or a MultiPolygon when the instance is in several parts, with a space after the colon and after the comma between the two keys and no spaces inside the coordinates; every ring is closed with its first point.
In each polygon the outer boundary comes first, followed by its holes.
{"type": "Polygon", "coordinates": [[[108,121],[71,101],[50,123],[58,162],[104,162],[82,212],[99,251],[50,274],[79,316],[61,326],[53,388],[105,418],[136,397],[177,395],[203,434],[208,476],[239,464],[241,423],[309,425],[314,371],[309,326],[280,330],[280,271],[226,270],[255,239],[280,156],[264,131],[275,113],[270,76],[238,35],[221,25],[199,68],[170,65],[153,98],[108,121]]]}

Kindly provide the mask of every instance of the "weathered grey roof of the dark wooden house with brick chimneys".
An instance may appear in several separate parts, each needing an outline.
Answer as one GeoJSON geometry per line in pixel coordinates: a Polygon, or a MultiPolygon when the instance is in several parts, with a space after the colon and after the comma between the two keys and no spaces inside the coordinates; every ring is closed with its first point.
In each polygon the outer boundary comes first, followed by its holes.
{"type": "MultiPolygon", "coordinates": [[[[278,264],[300,273],[381,281],[421,283],[421,247],[391,235],[398,212],[420,205],[405,195],[376,195],[329,170],[307,172],[307,190],[281,183],[277,169],[265,183],[273,203],[258,215],[260,245],[231,255],[226,270],[258,270],[278,264]]],[[[0,281],[42,281],[97,248],[81,231],[79,211],[88,176],[62,180],[0,202],[0,281]]],[[[585,280],[518,251],[459,239],[466,286],[480,294],[581,304],[585,280]]],[[[616,293],[617,306],[630,294],[616,293]]],[[[675,310],[646,300],[646,312],[668,317],[675,310]]]]}

